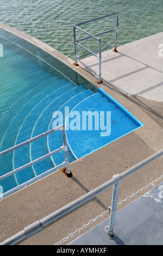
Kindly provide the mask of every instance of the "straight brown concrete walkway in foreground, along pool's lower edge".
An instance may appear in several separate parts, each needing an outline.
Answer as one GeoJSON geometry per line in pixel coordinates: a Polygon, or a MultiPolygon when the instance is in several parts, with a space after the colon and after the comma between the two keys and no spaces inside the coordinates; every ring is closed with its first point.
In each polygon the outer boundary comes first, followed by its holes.
{"type": "MultiPolygon", "coordinates": [[[[62,170],[58,170],[1,199],[0,242],[21,231],[27,225],[41,220],[53,211],[83,196],[111,179],[114,174],[123,172],[153,153],[154,151],[139,136],[130,133],[93,154],[71,163],[72,178],[67,178],[62,170]]],[[[162,164],[163,160],[158,159],[125,179],[120,187],[118,202],[159,178],[162,175],[162,164]]],[[[111,206],[111,197],[112,189],[110,188],[20,244],[54,245],[58,243],[108,209],[108,206],[111,206]]],[[[137,197],[140,195],[138,194],[137,197]]],[[[135,198],[131,198],[131,200],[135,200],[135,198]]],[[[117,210],[130,202],[118,206],[117,210]]],[[[104,216],[93,225],[89,225],[87,229],[74,235],[62,245],[71,242],[106,217],[104,216]]]]}

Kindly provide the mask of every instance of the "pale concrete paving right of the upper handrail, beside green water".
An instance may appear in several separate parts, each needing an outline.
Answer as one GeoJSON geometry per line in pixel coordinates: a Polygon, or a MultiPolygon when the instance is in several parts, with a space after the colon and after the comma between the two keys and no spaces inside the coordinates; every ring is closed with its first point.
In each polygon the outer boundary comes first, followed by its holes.
{"type": "MultiPolygon", "coordinates": [[[[102,79],[127,95],[163,101],[163,32],[102,53],[102,79]]],[[[83,59],[98,72],[95,56],[83,59]]]]}

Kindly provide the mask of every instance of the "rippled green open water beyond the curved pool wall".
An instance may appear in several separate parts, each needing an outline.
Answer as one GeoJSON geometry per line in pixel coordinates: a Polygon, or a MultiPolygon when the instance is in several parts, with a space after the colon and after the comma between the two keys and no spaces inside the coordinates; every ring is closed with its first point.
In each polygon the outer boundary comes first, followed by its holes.
{"type": "MultiPolygon", "coordinates": [[[[1,22],[15,27],[74,57],[74,23],[120,11],[118,45],[162,32],[162,0],[1,0],[1,22]]],[[[83,27],[98,33],[115,27],[115,19],[93,22],[83,27]]],[[[114,42],[114,34],[102,38],[103,46],[114,42]]],[[[97,50],[97,42],[89,48],[97,50]],[[95,46],[96,45],[96,46],[95,46]]]]}

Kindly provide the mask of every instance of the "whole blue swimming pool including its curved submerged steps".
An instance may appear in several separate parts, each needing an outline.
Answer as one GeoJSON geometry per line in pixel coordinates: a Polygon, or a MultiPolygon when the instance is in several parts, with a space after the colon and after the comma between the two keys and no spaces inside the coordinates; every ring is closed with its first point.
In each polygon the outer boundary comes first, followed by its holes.
{"type": "MultiPolygon", "coordinates": [[[[36,45],[4,29],[0,29],[0,43],[3,46],[3,56],[0,57],[0,151],[57,126],[60,124],[57,119],[59,113],[62,113],[62,121],[66,124],[70,162],[143,125],[102,89],[97,90],[36,45]],[[65,109],[68,111],[66,114],[65,109]],[[93,113],[93,118],[96,115],[102,118],[101,114],[108,112],[108,119],[104,118],[103,127],[100,127],[102,129],[94,127],[96,122],[92,129],[81,129],[83,124],[79,125],[75,115],[82,116],[82,112],[88,111],[93,113]],[[104,136],[101,136],[102,132],[104,136]]],[[[61,131],[58,131],[2,156],[0,176],[61,145],[61,131]]],[[[60,152],[2,180],[3,192],[63,161],[64,152],[60,152]]]]}

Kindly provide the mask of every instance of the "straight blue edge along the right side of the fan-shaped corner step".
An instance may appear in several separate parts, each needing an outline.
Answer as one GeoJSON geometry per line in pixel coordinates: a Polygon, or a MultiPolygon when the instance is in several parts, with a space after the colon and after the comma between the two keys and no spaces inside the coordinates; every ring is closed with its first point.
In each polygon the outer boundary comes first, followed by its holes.
{"type": "Polygon", "coordinates": [[[112,96],[110,96],[108,93],[106,93],[102,88],[98,88],[98,93],[102,94],[107,100],[110,100],[110,102],[114,103],[117,107],[121,109],[121,111],[128,116],[137,126],[141,127],[143,126],[143,123],[141,123],[140,120],[138,120],[136,117],[134,117],[133,114],[131,114],[127,108],[123,107],[118,101],[116,101],[112,96]]]}

